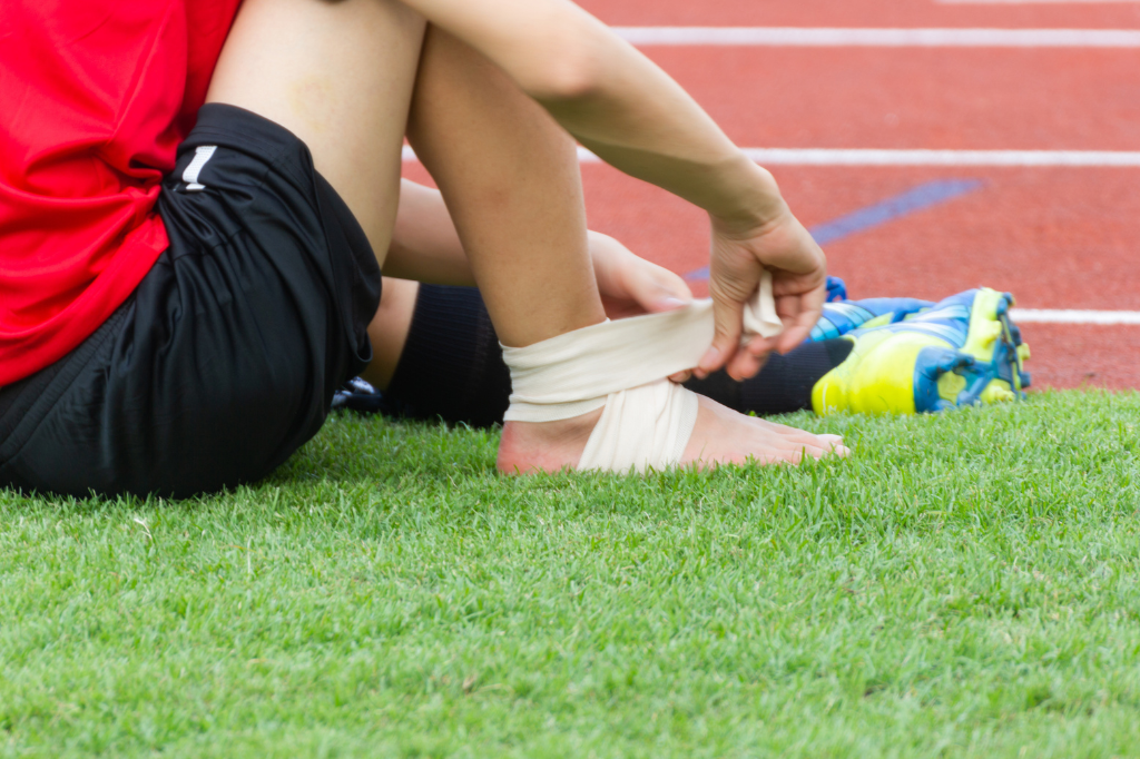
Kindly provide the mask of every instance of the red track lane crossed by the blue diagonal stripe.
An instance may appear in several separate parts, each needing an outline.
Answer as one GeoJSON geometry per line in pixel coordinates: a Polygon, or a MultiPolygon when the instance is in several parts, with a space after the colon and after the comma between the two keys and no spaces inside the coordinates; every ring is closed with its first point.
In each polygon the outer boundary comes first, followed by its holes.
{"type": "MultiPolygon", "coordinates": [[[[986,181],[963,197],[828,246],[853,297],[938,300],[984,284],[1026,308],[1140,310],[1140,171],[777,166],[807,226],[936,178],[986,181]]],[[[705,217],[603,165],[583,171],[591,226],[675,271],[706,263],[705,217]]],[[[1140,332],[1140,328],[1138,328],[1140,332]]]]}

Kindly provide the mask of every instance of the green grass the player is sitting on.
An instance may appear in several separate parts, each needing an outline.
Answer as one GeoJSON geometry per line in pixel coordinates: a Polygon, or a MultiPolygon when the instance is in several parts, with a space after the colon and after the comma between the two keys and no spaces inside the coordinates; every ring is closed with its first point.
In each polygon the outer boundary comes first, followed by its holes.
{"type": "Polygon", "coordinates": [[[339,416],[188,501],[0,491],[0,756],[1140,756],[1140,395],[494,473],[339,416]]]}

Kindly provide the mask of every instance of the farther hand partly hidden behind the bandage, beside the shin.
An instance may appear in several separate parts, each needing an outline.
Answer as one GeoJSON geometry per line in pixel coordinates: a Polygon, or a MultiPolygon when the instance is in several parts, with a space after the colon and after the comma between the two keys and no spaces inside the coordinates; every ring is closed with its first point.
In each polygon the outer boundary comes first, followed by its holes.
{"type": "Polygon", "coordinates": [[[591,231],[589,254],[602,305],[611,319],[674,311],[693,300],[684,279],[638,258],[609,235],[591,231]]]}

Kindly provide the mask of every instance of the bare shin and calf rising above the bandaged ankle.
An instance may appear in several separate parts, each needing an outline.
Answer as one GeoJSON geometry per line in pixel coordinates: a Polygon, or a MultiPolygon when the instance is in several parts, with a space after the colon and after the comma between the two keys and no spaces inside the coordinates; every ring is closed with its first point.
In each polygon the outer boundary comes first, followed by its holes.
{"type": "Polygon", "coordinates": [[[498,67],[437,27],[424,40],[408,140],[447,201],[504,344],[605,319],[573,142],[498,67]]]}

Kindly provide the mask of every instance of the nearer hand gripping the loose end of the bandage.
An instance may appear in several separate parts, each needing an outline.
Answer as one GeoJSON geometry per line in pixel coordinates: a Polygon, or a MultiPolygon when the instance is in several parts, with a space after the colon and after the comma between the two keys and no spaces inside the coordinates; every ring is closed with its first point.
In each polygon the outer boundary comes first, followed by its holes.
{"type": "Polygon", "coordinates": [[[703,377],[724,366],[734,379],[747,379],[759,372],[771,351],[790,351],[811,334],[826,300],[826,260],[785,204],[751,229],[712,218],[709,295],[716,335],[697,374],[703,377]],[[764,269],[772,272],[772,294],[784,330],[771,338],[755,336],[741,346],[743,304],[756,292],[764,269]]]}

